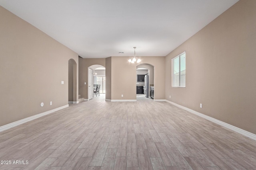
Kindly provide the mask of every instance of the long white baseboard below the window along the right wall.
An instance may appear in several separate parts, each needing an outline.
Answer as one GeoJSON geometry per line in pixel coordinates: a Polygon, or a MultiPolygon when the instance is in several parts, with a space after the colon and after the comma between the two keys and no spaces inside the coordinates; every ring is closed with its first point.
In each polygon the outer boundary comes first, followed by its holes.
{"type": "Polygon", "coordinates": [[[184,110],[186,110],[186,111],[189,111],[190,113],[193,113],[193,114],[196,114],[196,115],[198,115],[198,116],[200,116],[200,117],[203,117],[204,119],[207,119],[207,120],[209,120],[209,121],[212,121],[212,122],[214,122],[214,123],[216,123],[216,124],[218,124],[218,125],[221,125],[221,126],[223,126],[223,127],[226,127],[226,128],[228,128],[228,129],[230,129],[230,130],[232,130],[232,131],[235,131],[235,132],[237,132],[237,133],[240,133],[241,135],[244,135],[244,136],[246,136],[246,137],[248,137],[248,138],[250,138],[250,139],[256,140],[256,135],[255,135],[254,133],[250,133],[250,132],[248,132],[248,131],[245,131],[245,130],[243,130],[243,129],[240,129],[240,128],[238,128],[238,127],[235,127],[235,126],[233,126],[233,125],[230,125],[230,124],[228,124],[228,123],[225,123],[225,122],[223,122],[223,121],[220,121],[220,120],[218,120],[218,119],[214,119],[213,117],[204,115],[204,114],[202,114],[202,113],[199,113],[199,112],[194,111],[194,110],[192,110],[192,109],[189,109],[189,108],[187,108],[187,107],[181,106],[181,105],[176,104],[176,103],[174,103],[174,102],[171,102],[171,101],[169,101],[169,100],[165,100],[165,101],[168,102],[168,103],[170,103],[170,104],[172,104],[172,105],[174,105],[174,106],[177,106],[177,107],[180,107],[180,108],[182,108],[182,109],[184,109],[184,110]]]}

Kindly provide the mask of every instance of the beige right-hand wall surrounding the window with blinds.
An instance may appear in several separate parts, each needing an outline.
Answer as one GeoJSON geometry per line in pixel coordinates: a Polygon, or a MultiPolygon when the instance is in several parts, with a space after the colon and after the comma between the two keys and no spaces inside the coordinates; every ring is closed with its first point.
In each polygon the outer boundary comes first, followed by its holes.
{"type": "Polygon", "coordinates": [[[167,55],[167,100],[256,134],[255,7],[240,0],[167,55]],[[172,88],[171,59],[183,51],[186,88],[172,88]]]}

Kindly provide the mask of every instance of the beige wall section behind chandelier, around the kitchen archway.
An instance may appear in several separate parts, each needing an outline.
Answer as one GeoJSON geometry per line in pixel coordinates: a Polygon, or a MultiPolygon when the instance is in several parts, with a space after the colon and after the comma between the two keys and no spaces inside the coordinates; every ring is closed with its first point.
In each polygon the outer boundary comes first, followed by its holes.
{"type": "MultiPolygon", "coordinates": [[[[111,57],[111,99],[136,100],[136,66],[129,63],[130,57],[111,57]],[[124,97],[121,97],[121,95],[124,97]]],[[[154,99],[165,99],[165,57],[140,57],[140,64],[154,66],[154,99]]]]}

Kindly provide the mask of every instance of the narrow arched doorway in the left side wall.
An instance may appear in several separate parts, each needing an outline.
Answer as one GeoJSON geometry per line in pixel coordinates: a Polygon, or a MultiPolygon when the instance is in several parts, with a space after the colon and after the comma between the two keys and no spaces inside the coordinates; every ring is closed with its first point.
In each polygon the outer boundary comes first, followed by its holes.
{"type": "Polygon", "coordinates": [[[68,61],[68,103],[77,104],[77,95],[76,95],[76,61],[70,59],[68,61]]]}

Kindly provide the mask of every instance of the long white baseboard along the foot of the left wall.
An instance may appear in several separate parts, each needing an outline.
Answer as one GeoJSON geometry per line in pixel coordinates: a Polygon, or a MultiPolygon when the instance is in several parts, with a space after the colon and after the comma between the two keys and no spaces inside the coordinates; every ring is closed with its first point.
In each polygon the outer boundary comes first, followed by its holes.
{"type": "Polygon", "coordinates": [[[64,109],[64,108],[66,108],[66,107],[68,107],[68,106],[69,106],[69,105],[67,104],[67,105],[58,107],[58,108],[56,108],[56,109],[52,109],[52,110],[49,110],[49,111],[46,111],[46,112],[43,112],[43,113],[36,114],[36,115],[34,115],[34,116],[27,117],[27,118],[25,118],[25,119],[21,119],[21,120],[18,120],[18,121],[9,123],[9,124],[7,124],[7,125],[3,125],[3,126],[0,127],[0,132],[1,132],[1,131],[5,131],[5,130],[7,130],[7,129],[10,129],[10,128],[12,128],[12,127],[21,125],[22,123],[26,123],[26,122],[28,122],[28,121],[32,121],[32,120],[37,119],[37,118],[39,118],[39,117],[42,117],[42,116],[44,116],[44,115],[48,115],[48,114],[50,114],[50,113],[53,113],[54,111],[58,111],[58,110],[60,110],[60,109],[64,109]]]}

